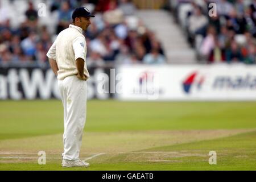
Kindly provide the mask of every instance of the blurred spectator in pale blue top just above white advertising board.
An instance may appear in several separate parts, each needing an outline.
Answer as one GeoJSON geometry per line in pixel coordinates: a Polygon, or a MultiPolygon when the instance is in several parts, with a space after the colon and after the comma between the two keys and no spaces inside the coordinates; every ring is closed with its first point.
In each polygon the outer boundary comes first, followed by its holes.
{"type": "Polygon", "coordinates": [[[164,64],[166,60],[163,55],[160,55],[158,49],[152,49],[151,53],[147,53],[143,58],[145,64],[164,64]]]}

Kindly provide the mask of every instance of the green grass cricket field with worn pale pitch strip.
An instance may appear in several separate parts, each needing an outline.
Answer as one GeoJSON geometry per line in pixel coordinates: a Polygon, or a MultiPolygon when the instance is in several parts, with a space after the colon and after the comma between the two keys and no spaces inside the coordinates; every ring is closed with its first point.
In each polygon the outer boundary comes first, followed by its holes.
{"type": "Polygon", "coordinates": [[[0,101],[0,108],[0,170],[256,169],[256,102],[88,101],[80,155],[87,169],[60,166],[60,101],[0,101]],[[46,165],[38,151],[46,151],[46,165]]]}

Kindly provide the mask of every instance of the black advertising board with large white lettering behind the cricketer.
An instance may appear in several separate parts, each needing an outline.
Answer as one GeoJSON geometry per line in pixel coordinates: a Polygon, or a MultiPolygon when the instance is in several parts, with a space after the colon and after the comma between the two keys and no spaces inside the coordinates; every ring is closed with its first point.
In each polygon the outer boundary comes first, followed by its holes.
{"type": "MultiPolygon", "coordinates": [[[[87,98],[108,100],[112,94],[109,88],[109,68],[89,68],[87,81],[87,98]],[[101,85],[104,85],[102,89],[101,85]]],[[[60,99],[57,79],[50,68],[0,67],[0,101],[1,100],[48,100],[60,99]]]]}

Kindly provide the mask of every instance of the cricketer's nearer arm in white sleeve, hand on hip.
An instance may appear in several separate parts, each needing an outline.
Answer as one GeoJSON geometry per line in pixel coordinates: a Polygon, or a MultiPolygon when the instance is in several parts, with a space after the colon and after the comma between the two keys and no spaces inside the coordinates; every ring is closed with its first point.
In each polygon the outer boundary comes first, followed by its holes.
{"type": "Polygon", "coordinates": [[[73,41],[73,50],[75,52],[76,68],[77,68],[77,77],[80,80],[86,80],[84,75],[84,62],[85,62],[85,38],[79,36],[73,41]]]}

